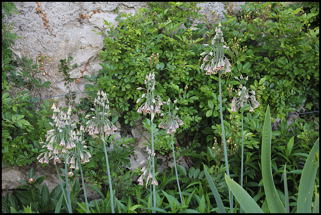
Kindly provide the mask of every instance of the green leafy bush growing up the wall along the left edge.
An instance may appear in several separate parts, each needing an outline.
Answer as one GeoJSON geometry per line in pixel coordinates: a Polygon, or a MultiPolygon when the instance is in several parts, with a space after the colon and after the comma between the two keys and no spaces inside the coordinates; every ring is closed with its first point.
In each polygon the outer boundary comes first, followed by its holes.
{"type": "MultiPolygon", "coordinates": [[[[11,2],[3,2],[2,8],[7,16],[15,11],[11,2]]],[[[2,19],[5,14],[2,14],[2,19]]],[[[12,59],[10,43],[20,38],[11,33],[13,24],[2,23],[2,165],[25,165],[32,163],[38,156],[38,146],[41,137],[49,126],[47,117],[52,114],[52,101],[44,100],[43,104],[29,101],[29,89],[34,87],[49,87],[50,82],[35,78],[41,72],[45,56],[37,56],[34,63],[31,59],[23,58],[21,62],[12,59]],[[19,67],[19,69],[18,69],[19,67]],[[17,71],[19,70],[19,71],[17,71]],[[13,89],[18,90],[16,95],[13,89]]]]}

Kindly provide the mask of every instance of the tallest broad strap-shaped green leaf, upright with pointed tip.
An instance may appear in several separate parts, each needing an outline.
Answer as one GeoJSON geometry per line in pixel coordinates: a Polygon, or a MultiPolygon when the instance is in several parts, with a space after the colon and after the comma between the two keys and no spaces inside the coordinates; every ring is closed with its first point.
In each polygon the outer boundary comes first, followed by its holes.
{"type": "Polygon", "coordinates": [[[272,213],[285,213],[285,208],[278,195],[272,176],[271,166],[271,138],[272,138],[272,126],[271,115],[269,105],[267,106],[265,113],[265,120],[263,126],[262,136],[262,177],[264,192],[267,200],[267,205],[272,213]]]}

